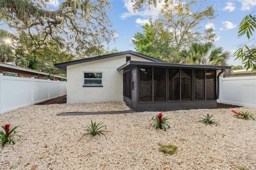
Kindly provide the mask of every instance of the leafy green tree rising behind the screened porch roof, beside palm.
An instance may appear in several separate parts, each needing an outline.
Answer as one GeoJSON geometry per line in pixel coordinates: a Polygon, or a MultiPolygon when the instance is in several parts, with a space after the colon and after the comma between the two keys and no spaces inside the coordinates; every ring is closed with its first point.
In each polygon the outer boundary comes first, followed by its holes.
{"type": "Polygon", "coordinates": [[[197,1],[166,1],[161,10],[162,17],[145,24],[142,26],[143,32],[133,36],[136,50],[164,61],[180,62],[179,52],[191,43],[214,41],[212,28],[200,29],[202,22],[215,18],[213,6],[206,6],[203,10],[198,8],[194,12],[196,6],[203,4],[197,1]]]}

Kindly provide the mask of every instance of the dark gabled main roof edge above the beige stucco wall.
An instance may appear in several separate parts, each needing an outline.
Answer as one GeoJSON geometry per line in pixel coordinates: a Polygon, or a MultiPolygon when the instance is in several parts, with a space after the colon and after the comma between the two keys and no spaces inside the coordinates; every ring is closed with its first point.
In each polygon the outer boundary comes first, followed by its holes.
{"type": "Polygon", "coordinates": [[[134,56],[137,56],[137,57],[145,58],[145,59],[147,59],[149,61],[153,61],[153,62],[164,62],[164,61],[159,60],[157,58],[134,52],[133,50],[127,50],[127,51],[124,51],[124,52],[100,55],[100,56],[91,57],[91,58],[84,58],[84,59],[81,59],[81,60],[75,60],[75,61],[71,61],[71,62],[58,63],[58,64],[54,64],[54,66],[61,69],[61,70],[66,71],[68,65],[91,62],[91,61],[95,61],[95,60],[101,60],[101,59],[104,59],[104,58],[115,57],[115,56],[118,56],[118,55],[126,55],[126,54],[131,54],[131,55],[134,55],[134,56]]]}

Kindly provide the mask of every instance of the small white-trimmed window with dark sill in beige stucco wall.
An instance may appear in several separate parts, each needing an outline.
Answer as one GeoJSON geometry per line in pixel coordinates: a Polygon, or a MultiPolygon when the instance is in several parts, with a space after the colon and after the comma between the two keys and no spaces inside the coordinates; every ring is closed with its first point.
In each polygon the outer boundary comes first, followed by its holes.
{"type": "Polygon", "coordinates": [[[102,72],[84,72],[83,86],[102,86],[102,72]]]}

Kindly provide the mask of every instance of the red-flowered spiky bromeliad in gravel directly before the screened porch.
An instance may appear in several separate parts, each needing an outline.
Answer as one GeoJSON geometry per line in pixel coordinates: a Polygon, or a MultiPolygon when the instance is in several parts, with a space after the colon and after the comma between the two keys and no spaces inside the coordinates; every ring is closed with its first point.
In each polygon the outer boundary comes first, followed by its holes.
{"type": "Polygon", "coordinates": [[[153,116],[151,118],[151,121],[153,122],[153,126],[156,127],[156,129],[164,129],[166,131],[166,128],[170,128],[170,123],[167,122],[170,118],[167,116],[164,116],[163,113],[158,113],[156,116],[153,116]]]}

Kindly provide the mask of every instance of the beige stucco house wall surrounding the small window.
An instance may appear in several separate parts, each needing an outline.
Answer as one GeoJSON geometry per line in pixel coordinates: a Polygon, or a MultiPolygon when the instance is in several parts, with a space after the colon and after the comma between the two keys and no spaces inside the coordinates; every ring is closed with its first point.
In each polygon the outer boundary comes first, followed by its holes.
{"type": "Polygon", "coordinates": [[[117,68],[131,60],[148,61],[133,55],[121,55],[67,66],[67,103],[123,101],[123,71],[117,68]],[[83,72],[102,72],[103,87],[83,87],[83,72]]]}

